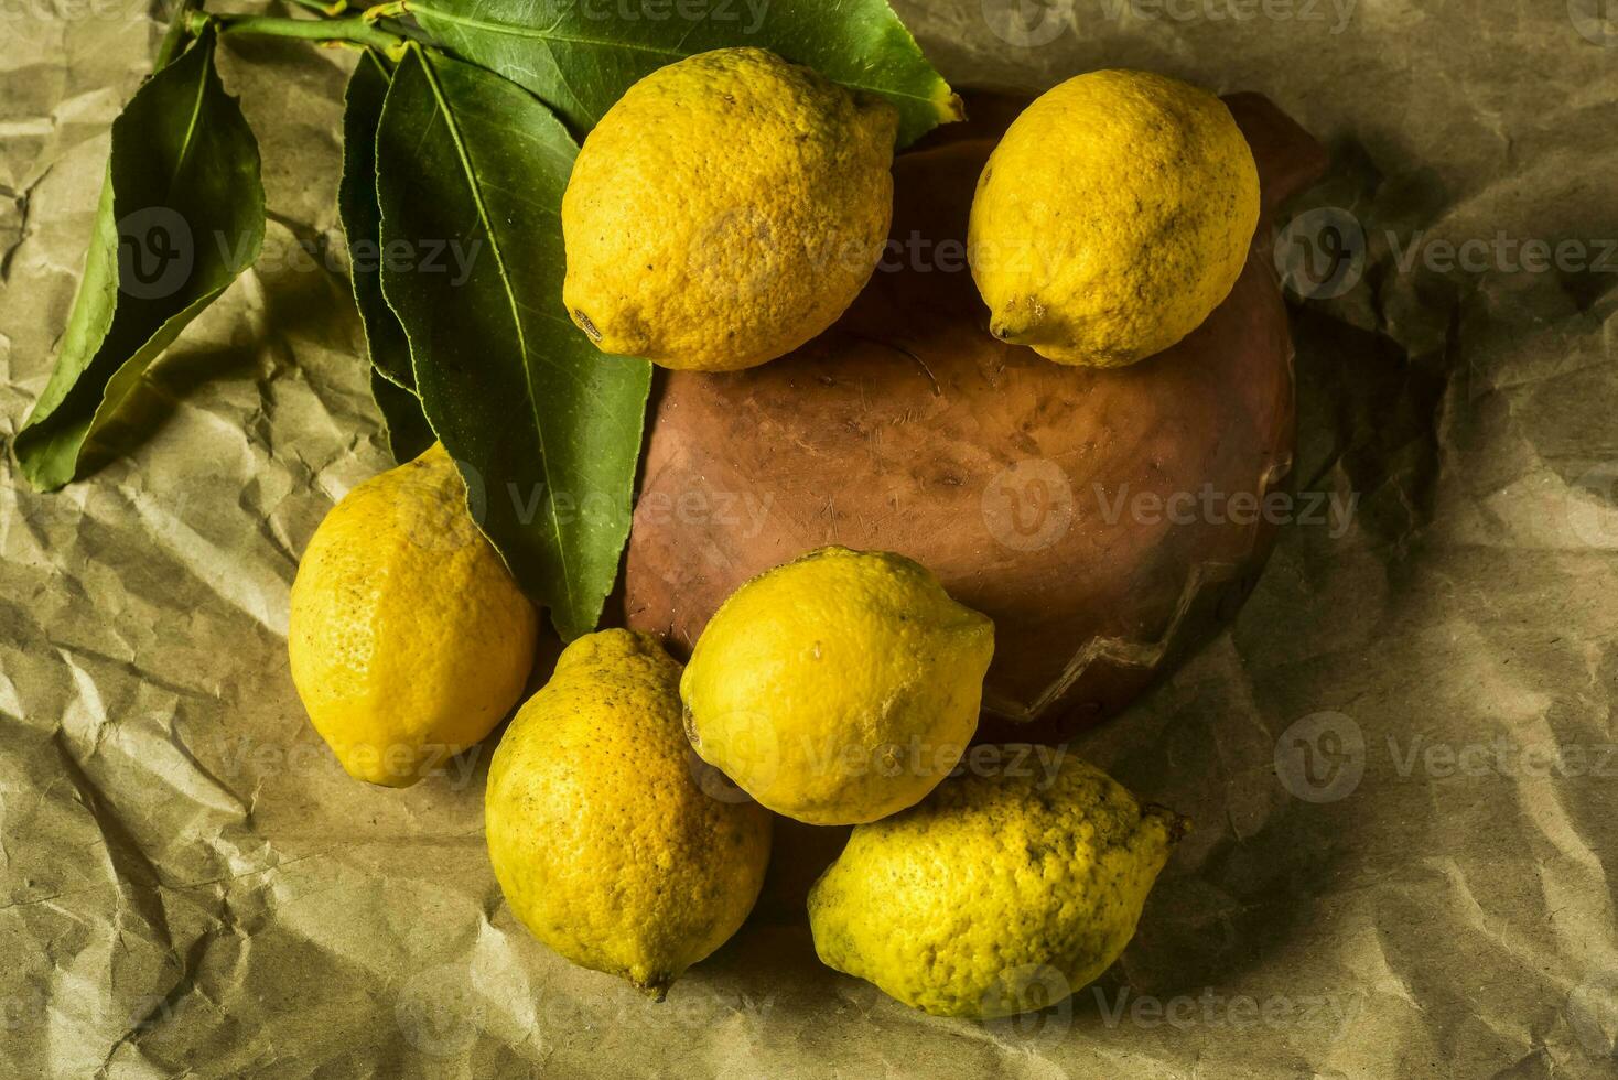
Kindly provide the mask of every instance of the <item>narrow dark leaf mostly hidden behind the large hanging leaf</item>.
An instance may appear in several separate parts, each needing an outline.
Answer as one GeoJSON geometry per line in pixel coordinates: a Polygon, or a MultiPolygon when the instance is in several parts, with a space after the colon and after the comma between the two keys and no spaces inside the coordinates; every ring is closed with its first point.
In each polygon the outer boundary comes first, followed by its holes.
{"type": "Polygon", "coordinates": [[[387,422],[393,459],[404,462],[432,446],[434,435],[416,396],[409,341],[382,296],[382,209],[377,205],[377,124],[393,76],[366,50],[343,94],[343,179],[337,210],[348,238],[354,306],[371,354],[371,396],[387,422]]]}

